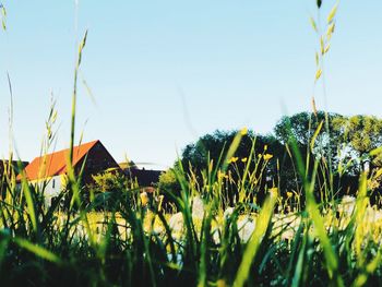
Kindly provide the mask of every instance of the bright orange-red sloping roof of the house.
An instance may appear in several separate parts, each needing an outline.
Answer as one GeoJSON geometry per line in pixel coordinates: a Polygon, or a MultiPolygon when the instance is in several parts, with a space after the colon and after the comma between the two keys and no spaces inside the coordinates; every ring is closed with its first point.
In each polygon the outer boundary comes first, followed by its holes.
{"type": "MultiPolygon", "coordinates": [[[[84,143],[73,147],[73,167],[88,153],[88,151],[99,141],[84,143]]],[[[64,175],[67,172],[67,160],[69,148],[52,154],[36,157],[24,169],[28,180],[44,179],[64,175]]],[[[17,176],[21,179],[21,175],[17,176]]]]}

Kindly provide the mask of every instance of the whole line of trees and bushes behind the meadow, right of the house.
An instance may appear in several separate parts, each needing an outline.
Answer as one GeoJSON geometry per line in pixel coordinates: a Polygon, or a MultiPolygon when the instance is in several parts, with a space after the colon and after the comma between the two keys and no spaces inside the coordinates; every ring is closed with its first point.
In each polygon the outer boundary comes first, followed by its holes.
{"type": "MultiPolygon", "coordinates": [[[[182,168],[196,181],[203,181],[208,167],[216,166],[225,158],[228,147],[238,131],[215,131],[201,136],[195,143],[184,147],[180,162],[163,174],[159,187],[163,191],[180,190],[176,170],[182,168]]],[[[300,176],[291,145],[298,147],[307,176],[319,163],[315,195],[320,201],[329,201],[344,194],[354,195],[358,189],[361,172],[373,175],[369,181],[373,203],[378,202],[382,170],[382,120],[373,116],[346,117],[333,112],[299,112],[283,117],[273,133],[256,134],[253,131],[242,137],[235,157],[228,167],[231,183],[226,192],[235,201],[240,172],[249,167],[254,170],[260,162],[266,162],[263,169],[254,175],[258,184],[253,193],[261,202],[270,188],[277,188],[282,196],[294,192],[303,196],[300,176]],[[254,155],[249,160],[252,146],[254,155]]]]}

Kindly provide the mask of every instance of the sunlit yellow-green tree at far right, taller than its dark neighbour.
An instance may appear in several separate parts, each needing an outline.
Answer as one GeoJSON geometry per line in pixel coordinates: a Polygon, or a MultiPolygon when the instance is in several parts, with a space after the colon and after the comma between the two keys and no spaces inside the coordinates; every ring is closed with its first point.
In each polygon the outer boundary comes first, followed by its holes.
{"type": "MultiPolygon", "coordinates": [[[[332,163],[332,175],[325,177],[332,177],[333,184],[342,187],[344,191],[356,192],[361,171],[371,172],[375,167],[382,167],[382,154],[370,156],[372,150],[382,145],[382,120],[377,117],[345,117],[330,112],[326,118],[323,111],[315,115],[299,112],[291,117],[283,117],[274,131],[284,144],[293,136],[302,158],[311,154],[315,159],[324,160],[324,165],[332,163]],[[314,145],[311,146],[313,134],[319,127],[321,130],[317,134],[314,145]]],[[[307,168],[311,170],[313,160],[310,160],[307,168]]],[[[322,170],[327,171],[327,168],[322,170]]]]}

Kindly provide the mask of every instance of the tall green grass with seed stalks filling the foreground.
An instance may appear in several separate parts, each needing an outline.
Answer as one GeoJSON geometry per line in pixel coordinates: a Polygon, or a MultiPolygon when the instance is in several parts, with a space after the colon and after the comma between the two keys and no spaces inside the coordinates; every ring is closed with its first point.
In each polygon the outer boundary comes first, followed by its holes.
{"type": "MultiPolygon", "coordinates": [[[[314,82],[324,74],[336,7],[327,17],[330,34],[320,39],[323,47],[314,82]]],[[[312,25],[319,33],[314,20],[312,25]]],[[[25,175],[16,182],[11,164],[4,164],[8,172],[0,175],[1,286],[382,285],[382,212],[369,201],[369,183],[375,175],[360,176],[356,199],[345,202],[335,196],[332,165],[311,151],[321,129],[330,133],[327,117],[312,131],[307,158],[295,139],[289,139],[287,151],[299,178],[298,192],[280,198],[278,187],[266,187],[268,195],[260,208],[253,208],[255,191],[272,155],[265,151],[255,154],[253,139],[244,168],[238,168],[235,153],[246,129],[237,133],[226,153],[222,151],[217,163],[208,160],[201,181],[179,162],[175,172],[180,193],[165,194],[172,199],[177,215],[166,213],[156,202],[151,208],[143,206],[139,188],[121,189],[117,204],[105,212],[99,212],[100,203],[94,196],[83,202],[86,191],[82,172],[75,174],[72,167],[72,153],[77,74],[86,36],[74,69],[68,187],[59,195],[61,201],[69,199],[68,206],[65,212],[60,211],[59,201],[46,206],[46,184],[29,184],[25,175]],[[239,194],[230,208],[224,192],[228,182],[239,194]],[[317,192],[321,202],[313,195],[317,192]],[[203,200],[203,215],[198,218],[192,203],[195,195],[203,200]],[[172,216],[180,217],[177,232],[172,216]]],[[[56,117],[52,105],[43,155],[55,142],[56,117]]]]}

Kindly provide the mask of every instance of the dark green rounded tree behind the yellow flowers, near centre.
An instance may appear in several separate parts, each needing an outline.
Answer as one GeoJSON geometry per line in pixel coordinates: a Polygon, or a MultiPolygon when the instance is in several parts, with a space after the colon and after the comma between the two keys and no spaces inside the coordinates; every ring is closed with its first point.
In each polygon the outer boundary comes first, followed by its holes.
{"type": "MultiPolygon", "coordinates": [[[[231,145],[238,131],[215,131],[212,134],[201,136],[195,143],[186,146],[182,153],[181,164],[186,172],[192,172],[196,177],[199,186],[203,186],[203,174],[206,175],[208,166],[213,169],[219,168],[226,158],[229,146],[231,145]]],[[[239,199],[237,183],[241,180],[241,175],[248,166],[250,172],[256,172],[260,180],[250,191],[256,194],[256,199],[261,202],[265,198],[266,190],[279,184],[278,167],[286,155],[285,147],[273,135],[256,135],[253,131],[248,131],[242,136],[241,142],[231,158],[234,164],[228,166],[227,175],[229,182],[226,183],[224,190],[228,202],[235,202],[239,199]],[[254,155],[251,162],[248,162],[252,146],[254,144],[254,155]],[[266,160],[262,156],[266,155],[266,160]],[[258,164],[265,165],[264,169],[255,169],[258,164]],[[234,182],[234,183],[232,183],[234,182]]],[[[282,171],[283,175],[289,170],[282,171]]],[[[205,177],[204,177],[205,178],[205,177]]],[[[248,180],[248,179],[247,179],[248,180]]]]}

